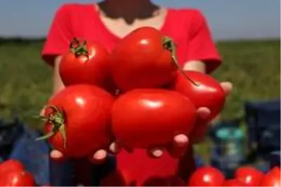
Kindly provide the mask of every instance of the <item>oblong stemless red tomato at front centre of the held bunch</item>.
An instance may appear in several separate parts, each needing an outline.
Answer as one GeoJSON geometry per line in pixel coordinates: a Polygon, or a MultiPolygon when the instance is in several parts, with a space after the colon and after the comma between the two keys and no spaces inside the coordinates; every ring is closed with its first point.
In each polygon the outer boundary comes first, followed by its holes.
{"type": "Polygon", "coordinates": [[[136,89],[121,95],[112,108],[112,131],[130,148],[166,145],[176,134],[188,134],[195,106],[171,90],[136,89]]]}

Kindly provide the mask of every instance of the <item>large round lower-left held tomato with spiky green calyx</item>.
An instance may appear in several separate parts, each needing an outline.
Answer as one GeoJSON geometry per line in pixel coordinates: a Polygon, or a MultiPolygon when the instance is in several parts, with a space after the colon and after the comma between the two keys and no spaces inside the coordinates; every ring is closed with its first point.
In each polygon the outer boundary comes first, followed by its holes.
{"type": "Polygon", "coordinates": [[[46,137],[69,157],[83,157],[105,148],[110,143],[113,102],[112,95],[93,85],[65,88],[48,102],[46,137]]]}

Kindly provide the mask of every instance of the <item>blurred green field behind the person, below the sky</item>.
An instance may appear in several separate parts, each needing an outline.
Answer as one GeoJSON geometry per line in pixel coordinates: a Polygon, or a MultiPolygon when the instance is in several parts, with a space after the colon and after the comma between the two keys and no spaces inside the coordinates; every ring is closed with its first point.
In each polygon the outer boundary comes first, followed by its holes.
{"type": "MultiPolygon", "coordinates": [[[[51,68],[40,59],[43,41],[0,40],[0,116],[27,124],[51,92],[51,68]]],[[[243,115],[246,100],[281,97],[281,40],[218,42],[224,64],[214,76],[234,84],[223,118],[243,115]]]]}

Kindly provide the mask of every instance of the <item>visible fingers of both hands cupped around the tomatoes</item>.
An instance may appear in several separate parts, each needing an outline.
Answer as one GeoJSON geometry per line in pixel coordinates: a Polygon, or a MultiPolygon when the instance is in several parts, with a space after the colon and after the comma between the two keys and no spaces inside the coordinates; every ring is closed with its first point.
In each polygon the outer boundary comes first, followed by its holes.
{"type": "MultiPolygon", "coordinates": [[[[229,82],[223,82],[223,83],[221,83],[221,86],[222,86],[223,90],[225,90],[226,95],[228,95],[233,88],[232,83],[229,83],[229,82]]],[[[202,107],[202,108],[198,109],[197,110],[197,114],[198,114],[197,120],[204,120],[204,119],[208,118],[210,113],[211,113],[211,111],[209,111],[209,109],[207,109],[207,108],[202,107]]],[[[168,145],[164,148],[155,147],[155,148],[149,149],[148,155],[150,155],[151,158],[160,158],[164,154],[164,151],[167,151],[173,157],[178,158],[178,157],[181,157],[181,155],[183,155],[185,153],[185,150],[188,147],[188,144],[189,144],[188,137],[185,134],[178,134],[174,137],[174,140],[173,140],[173,142],[171,142],[170,145],[168,145]]],[[[120,150],[121,150],[121,147],[119,147],[115,142],[113,142],[110,145],[110,151],[112,153],[118,153],[120,150]]],[[[127,151],[130,152],[130,150],[127,150],[127,151]]],[[[93,156],[91,157],[91,161],[96,162],[96,163],[103,162],[108,154],[109,153],[105,149],[100,149],[100,150],[96,151],[96,153],[93,154],[93,156]]],[[[54,160],[64,160],[65,159],[63,153],[61,153],[58,150],[52,150],[50,153],[50,156],[54,160]]]]}

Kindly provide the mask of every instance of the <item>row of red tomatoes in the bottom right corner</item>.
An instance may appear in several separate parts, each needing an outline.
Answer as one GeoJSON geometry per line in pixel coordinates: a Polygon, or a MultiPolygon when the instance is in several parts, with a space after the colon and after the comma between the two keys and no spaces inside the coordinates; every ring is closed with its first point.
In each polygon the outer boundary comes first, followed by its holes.
{"type": "Polygon", "coordinates": [[[281,169],[273,167],[266,174],[254,167],[240,167],[234,179],[226,179],[214,167],[201,167],[192,174],[188,187],[277,187],[281,186],[281,169]]]}

